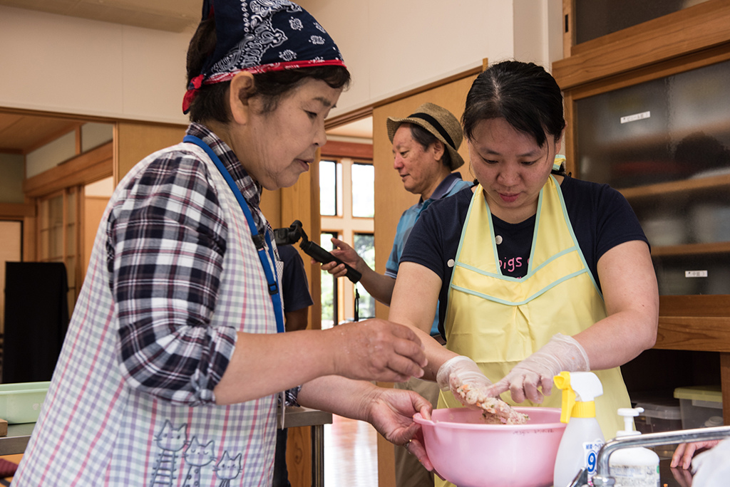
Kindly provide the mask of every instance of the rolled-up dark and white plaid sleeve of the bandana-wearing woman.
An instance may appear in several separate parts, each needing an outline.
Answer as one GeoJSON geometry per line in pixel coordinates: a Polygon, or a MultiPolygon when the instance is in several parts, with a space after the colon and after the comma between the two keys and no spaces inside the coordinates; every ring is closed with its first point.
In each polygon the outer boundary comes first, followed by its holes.
{"type": "Polygon", "coordinates": [[[106,229],[123,374],[164,400],[215,402],[237,330],[210,326],[228,227],[207,168],[163,153],[124,190],[106,229]]]}

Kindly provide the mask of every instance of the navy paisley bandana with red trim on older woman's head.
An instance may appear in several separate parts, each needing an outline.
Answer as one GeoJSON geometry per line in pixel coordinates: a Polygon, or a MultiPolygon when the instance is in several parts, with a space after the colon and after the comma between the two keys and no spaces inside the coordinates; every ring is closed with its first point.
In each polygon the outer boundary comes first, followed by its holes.
{"type": "Polygon", "coordinates": [[[329,34],[291,1],[204,0],[202,20],[210,17],[215,19],[215,51],[188,85],[183,113],[202,85],[229,81],[240,71],[345,66],[329,34]]]}

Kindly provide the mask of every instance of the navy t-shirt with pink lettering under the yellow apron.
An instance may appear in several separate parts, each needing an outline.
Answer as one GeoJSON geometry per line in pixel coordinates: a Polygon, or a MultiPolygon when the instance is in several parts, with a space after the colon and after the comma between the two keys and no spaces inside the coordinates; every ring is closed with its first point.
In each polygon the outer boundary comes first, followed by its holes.
{"type": "MultiPolygon", "coordinates": [[[[600,289],[597,263],[603,254],[624,242],[640,240],[648,245],[648,240],[629,202],[607,184],[566,176],[561,183],[561,190],[578,246],[600,289]]],[[[423,265],[441,278],[439,330],[442,334],[453,270],[448,261],[456,259],[472,195],[471,188],[467,188],[450,198],[434,201],[416,222],[401,255],[401,262],[423,265]]],[[[497,245],[502,273],[512,277],[524,276],[527,273],[535,217],[510,224],[492,216],[492,222],[495,235],[502,237],[502,243],[497,245]]]]}

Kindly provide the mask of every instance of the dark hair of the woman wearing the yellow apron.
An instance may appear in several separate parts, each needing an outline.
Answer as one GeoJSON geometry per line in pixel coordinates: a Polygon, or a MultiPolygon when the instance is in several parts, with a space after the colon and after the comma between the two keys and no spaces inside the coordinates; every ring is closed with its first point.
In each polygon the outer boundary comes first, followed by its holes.
{"type": "Polygon", "coordinates": [[[545,145],[545,133],[560,139],[565,128],[563,95],[556,80],[542,66],[502,61],[475,79],[461,117],[464,135],[472,139],[481,120],[504,118],[520,132],[545,145]]]}

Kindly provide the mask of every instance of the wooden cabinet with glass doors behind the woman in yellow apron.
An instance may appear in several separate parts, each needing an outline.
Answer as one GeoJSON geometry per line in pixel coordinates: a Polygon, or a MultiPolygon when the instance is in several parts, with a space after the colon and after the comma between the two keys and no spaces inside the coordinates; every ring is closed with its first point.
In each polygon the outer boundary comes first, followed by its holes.
{"type": "Polygon", "coordinates": [[[660,287],[655,348],[719,355],[730,424],[730,1],[679,2],[577,44],[579,1],[564,1],[566,57],[553,64],[568,169],[631,203],[660,287]]]}

